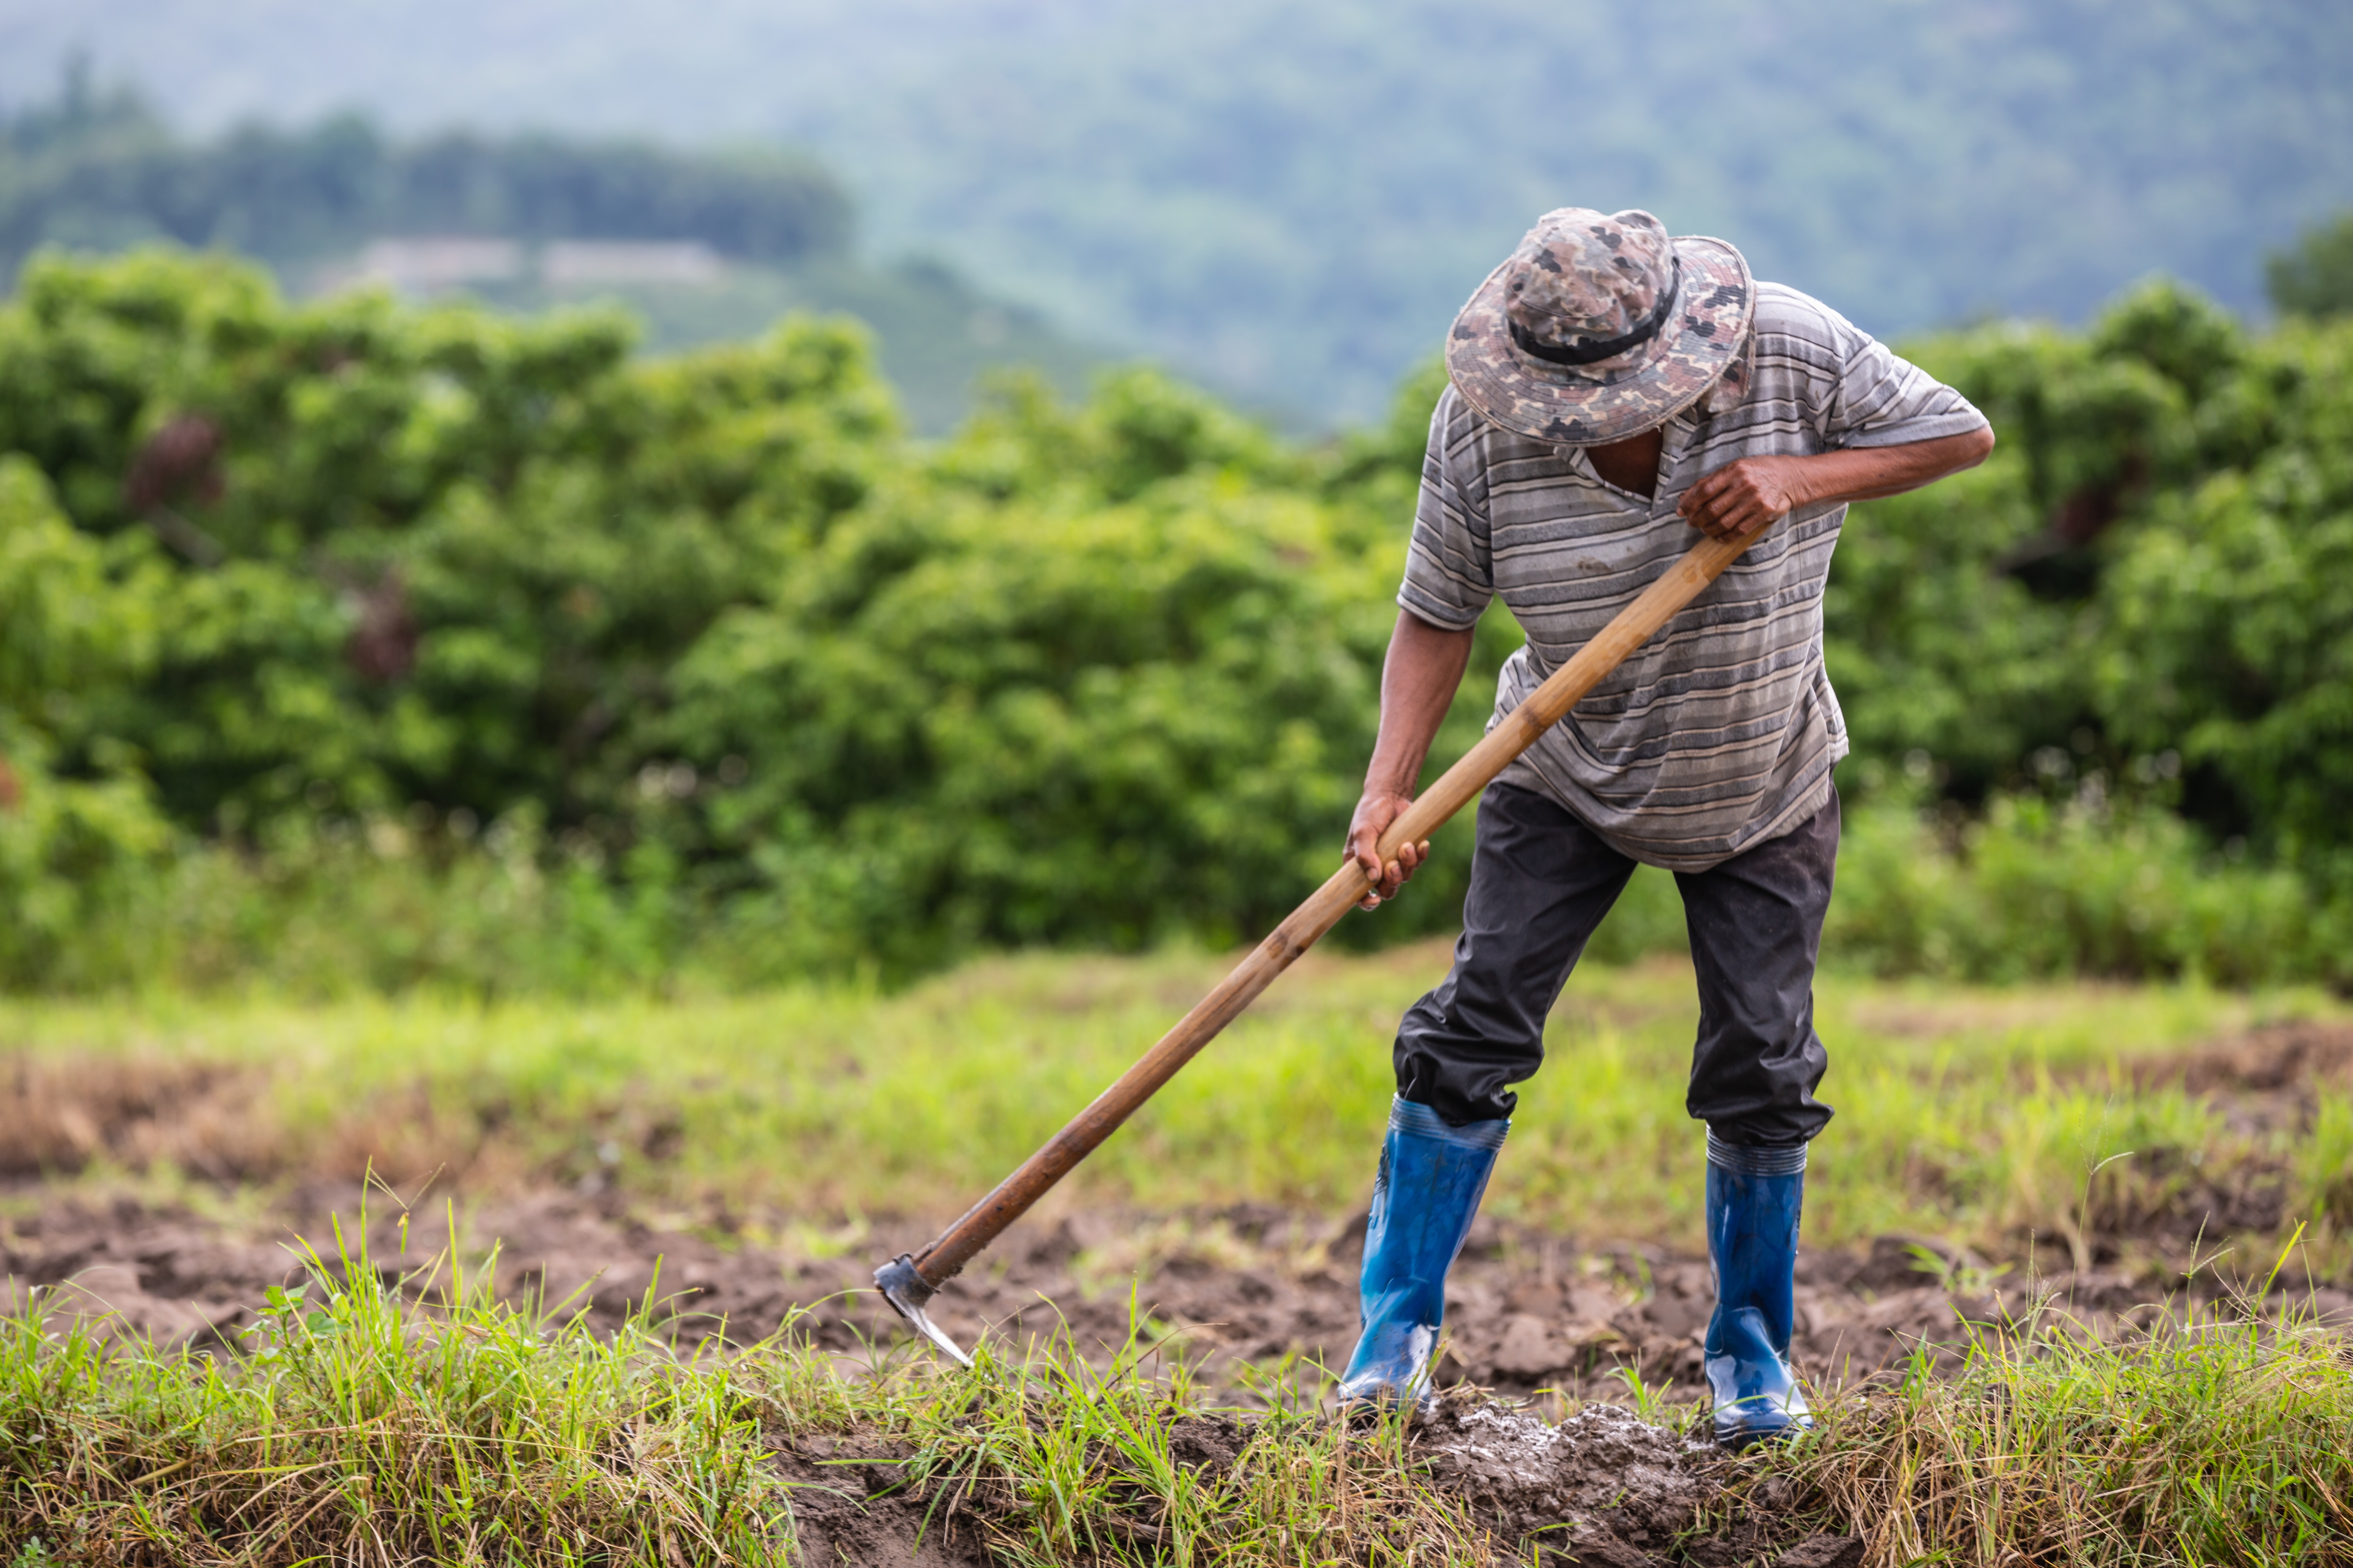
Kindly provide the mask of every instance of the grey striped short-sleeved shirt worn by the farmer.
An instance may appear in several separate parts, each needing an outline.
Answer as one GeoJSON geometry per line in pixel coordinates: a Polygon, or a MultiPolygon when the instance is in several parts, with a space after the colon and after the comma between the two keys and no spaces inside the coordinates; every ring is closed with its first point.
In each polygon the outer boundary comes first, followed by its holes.
{"type": "MultiPolygon", "coordinates": [[[[1701,400],[1666,423],[1657,496],[1602,482],[1584,447],[1489,423],[1452,386],[1438,400],[1398,604],[1466,630],[1504,597],[1527,644],[1504,661],[1497,717],[1699,541],[1675,505],[1701,475],[1746,456],[1897,447],[1986,423],[1960,393],[1781,284],[1758,284],[1746,355],[1746,395],[1701,400]]],[[[1821,668],[1821,588],[1845,517],[1833,503],[1772,524],[1501,778],[1668,870],[1706,870],[1807,820],[1847,755],[1821,668]]]]}

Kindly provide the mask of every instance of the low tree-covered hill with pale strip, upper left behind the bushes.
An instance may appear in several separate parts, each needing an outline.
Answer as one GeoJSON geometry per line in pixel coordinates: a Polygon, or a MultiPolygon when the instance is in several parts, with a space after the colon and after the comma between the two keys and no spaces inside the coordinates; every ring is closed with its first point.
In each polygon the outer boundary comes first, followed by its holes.
{"type": "Polygon", "coordinates": [[[294,294],[374,282],[508,310],[619,301],[656,350],[753,336],[788,310],[856,315],[929,433],[991,367],[1078,390],[1101,357],[936,261],[859,261],[849,195],[798,155],[544,132],[388,139],[355,115],[188,141],[80,73],[0,113],[0,287],[42,244],[144,242],[242,252],[294,294]]]}

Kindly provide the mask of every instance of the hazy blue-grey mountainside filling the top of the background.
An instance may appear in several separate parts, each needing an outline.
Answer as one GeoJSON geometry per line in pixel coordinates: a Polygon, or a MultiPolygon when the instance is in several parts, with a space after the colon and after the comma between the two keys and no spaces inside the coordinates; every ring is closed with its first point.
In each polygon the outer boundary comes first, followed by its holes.
{"type": "Polygon", "coordinates": [[[1553,205],[1739,242],[1875,331],[2082,317],[2353,205],[2339,0],[0,0],[191,125],[791,139],[1061,327],[1362,418],[1553,205]]]}

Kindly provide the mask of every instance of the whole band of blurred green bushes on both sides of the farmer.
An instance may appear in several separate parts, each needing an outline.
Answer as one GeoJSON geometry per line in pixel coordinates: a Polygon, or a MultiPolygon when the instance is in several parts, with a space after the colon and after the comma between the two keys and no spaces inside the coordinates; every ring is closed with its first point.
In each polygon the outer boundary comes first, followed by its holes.
{"type": "MultiPolygon", "coordinates": [[[[845,324],[628,350],[216,259],[26,270],[7,983],[908,973],[1245,938],[1334,865],[1433,371],[1318,449],[1151,371],[918,444],[845,324]]],[[[1859,961],[2339,978],[2348,350],[2169,284],[1918,346],[2002,444],[1833,571],[1859,961]]],[[[1461,839],[1344,940],[1442,929],[1461,839]]],[[[1640,898],[1605,950],[1673,940],[1640,898]]]]}

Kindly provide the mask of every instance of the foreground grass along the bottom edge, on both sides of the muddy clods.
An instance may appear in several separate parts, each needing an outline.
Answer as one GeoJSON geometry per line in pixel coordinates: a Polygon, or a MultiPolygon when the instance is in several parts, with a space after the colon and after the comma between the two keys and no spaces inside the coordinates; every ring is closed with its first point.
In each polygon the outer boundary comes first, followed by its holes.
{"type": "MultiPolygon", "coordinates": [[[[47,1563],[814,1563],[807,1521],[899,1495],[901,1547],[951,1519],[1002,1563],[1489,1563],[1395,1427],[1351,1432],[1268,1378],[1240,1455],[1181,1462],[1181,1361],[1068,1345],[972,1371],[779,1338],[680,1354],[534,1319],[431,1267],[388,1286],[365,1225],[273,1293],[245,1361],[0,1321],[0,1552],[47,1563]]],[[[1984,1333],[1958,1378],[1828,1392],[1786,1453],[1725,1465],[1791,1535],[1871,1563],[2341,1563],[2353,1378],[2339,1342],[2212,1319],[2097,1345],[1984,1333]]],[[[1697,1420],[1699,1410],[1659,1410],[1697,1420]]],[[[1534,1561],[1529,1556],[1527,1561],[1534,1561]]]]}

